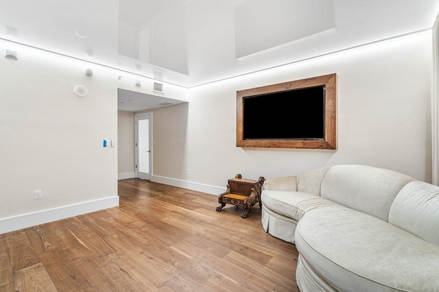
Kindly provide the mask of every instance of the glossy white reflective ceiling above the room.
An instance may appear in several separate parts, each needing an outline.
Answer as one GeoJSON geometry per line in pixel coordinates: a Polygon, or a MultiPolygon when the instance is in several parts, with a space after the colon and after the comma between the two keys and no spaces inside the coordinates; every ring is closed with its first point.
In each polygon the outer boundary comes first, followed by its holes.
{"type": "Polygon", "coordinates": [[[439,0],[0,0],[0,38],[185,87],[430,29],[439,0]]]}

